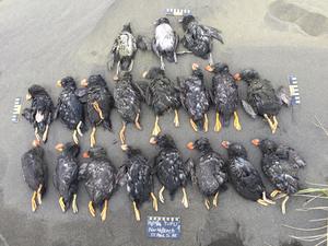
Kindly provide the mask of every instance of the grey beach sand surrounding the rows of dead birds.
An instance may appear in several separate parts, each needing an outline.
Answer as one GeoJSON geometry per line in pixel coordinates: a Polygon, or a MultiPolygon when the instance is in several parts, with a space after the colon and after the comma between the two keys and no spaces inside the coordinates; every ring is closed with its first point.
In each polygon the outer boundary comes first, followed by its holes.
{"type": "MultiPolygon", "coordinates": [[[[265,78],[278,86],[286,85],[286,77],[298,79],[302,104],[283,109],[279,115],[280,129],[272,138],[293,145],[307,160],[308,167],[302,178],[309,181],[327,180],[328,141],[312,124],[318,115],[328,124],[327,72],[328,66],[328,3],[325,1],[24,1],[0,0],[0,83],[1,83],[1,132],[0,139],[0,245],[222,245],[261,246],[266,243],[278,246],[286,242],[292,232],[282,224],[306,226],[306,214],[295,211],[304,200],[293,198],[285,216],[279,206],[261,208],[246,201],[232,187],[220,197],[215,210],[206,211],[197,189],[188,187],[190,208],[180,204],[180,195],[168,201],[154,213],[151,204],[141,209],[142,221],[134,222],[131,204],[124,189],[109,201],[110,211],[105,223],[92,219],[87,212],[87,196],[83,187],[79,192],[80,212],[62,214],[58,195],[51,179],[42,208],[30,211],[31,190],[22,179],[20,156],[30,148],[33,139],[31,126],[22,120],[11,122],[14,97],[24,96],[31,83],[39,83],[48,90],[54,101],[60,90],[56,81],[65,75],[80,80],[92,73],[101,73],[113,83],[113,73],[106,70],[108,50],[122,24],[130,21],[136,34],[151,35],[152,23],[164,14],[165,8],[187,8],[208,25],[223,32],[225,45],[215,43],[214,59],[226,61],[233,72],[245,67],[256,68],[265,78]],[[145,236],[145,215],[180,215],[183,235],[179,241],[155,241],[145,236]]],[[[171,17],[181,35],[177,17],[171,17]]],[[[180,57],[178,65],[166,65],[167,75],[188,75],[191,62],[206,66],[204,60],[192,56],[180,57]]],[[[133,75],[140,80],[143,70],[159,61],[152,54],[138,52],[133,75]]],[[[210,75],[207,74],[208,83],[210,75]]],[[[245,94],[242,84],[241,94],[245,94]]],[[[26,103],[24,102],[25,106],[26,103]]],[[[219,145],[222,140],[245,143],[249,157],[259,167],[259,151],[249,144],[255,137],[271,137],[266,124],[251,120],[242,109],[243,131],[231,126],[220,133],[212,131],[214,114],[210,114],[207,134],[213,147],[225,154],[219,145]]],[[[114,133],[102,129],[97,132],[98,143],[106,147],[108,155],[117,166],[122,153],[118,144],[120,120],[113,113],[114,133]]],[[[143,106],[141,122],[144,130],[128,129],[128,141],[139,145],[150,157],[156,153],[148,143],[154,117],[143,106]]],[[[202,136],[194,133],[185,113],[180,114],[181,127],[173,127],[173,115],[161,119],[162,129],[175,136],[185,157],[196,156],[185,144],[202,136]]],[[[71,136],[57,121],[50,129],[46,144],[46,157],[52,174],[55,144],[70,140],[71,136]]],[[[87,148],[87,138],[83,139],[87,148]]],[[[268,185],[268,184],[267,184],[268,185]]],[[[268,185],[268,189],[271,187],[268,185]]],[[[327,215],[326,215],[327,216],[327,215]]],[[[306,244],[304,244],[306,245],[306,244]]]]}

